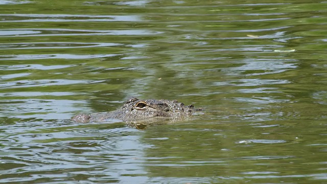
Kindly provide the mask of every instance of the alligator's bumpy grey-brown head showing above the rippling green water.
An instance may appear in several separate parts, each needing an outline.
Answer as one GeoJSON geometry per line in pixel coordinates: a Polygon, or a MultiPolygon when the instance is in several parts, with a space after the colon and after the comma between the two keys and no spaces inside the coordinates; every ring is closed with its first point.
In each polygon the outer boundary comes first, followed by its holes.
{"type": "Polygon", "coordinates": [[[190,116],[194,111],[201,111],[201,108],[195,109],[193,105],[184,106],[176,100],[139,100],[130,98],[123,107],[112,112],[99,112],[91,114],[78,114],[72,120],[79,123],[87,122],[105,122],[110,119],[122,120],[124,122],[141,121],[143,125],[149,125],[155,122],[157,118],[180,119],[190,116]]]}

